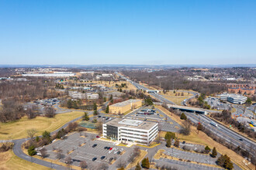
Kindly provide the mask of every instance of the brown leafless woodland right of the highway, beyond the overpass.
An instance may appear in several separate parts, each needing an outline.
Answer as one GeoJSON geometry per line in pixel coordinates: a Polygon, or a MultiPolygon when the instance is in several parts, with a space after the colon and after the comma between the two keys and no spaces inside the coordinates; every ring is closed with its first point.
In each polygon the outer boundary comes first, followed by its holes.
{"type": "Polygon", "coordinates": [[[218,83],[189,81],[185,77],[194,76],[194,74],[178,69],[161,70],[152,73],[144,71],[123,71],[123,74],[129,76],[132,80],[147,83],[152,87],[161,86],[164,90],[195,90],[206,95],[227,90],[227,87],[218,83]]]}

